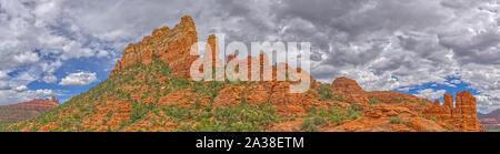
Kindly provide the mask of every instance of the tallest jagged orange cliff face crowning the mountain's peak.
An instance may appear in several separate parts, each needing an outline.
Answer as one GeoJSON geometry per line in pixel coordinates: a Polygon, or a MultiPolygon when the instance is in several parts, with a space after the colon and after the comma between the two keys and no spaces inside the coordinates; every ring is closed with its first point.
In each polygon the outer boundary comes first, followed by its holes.
{"type": "Polygon", "coordinates": [[[172,75],[189,78],[191,63],[199,58],[190,54],[191,47],[197,42],[194,22],[191,17],[183,17],[173,29],[168,27],[156,29],[141,42],[129,44],[123,51],[122,59],[111,71],[111,75],[138,62],[149,64],[158,58],[170,66],[172,75]]]}

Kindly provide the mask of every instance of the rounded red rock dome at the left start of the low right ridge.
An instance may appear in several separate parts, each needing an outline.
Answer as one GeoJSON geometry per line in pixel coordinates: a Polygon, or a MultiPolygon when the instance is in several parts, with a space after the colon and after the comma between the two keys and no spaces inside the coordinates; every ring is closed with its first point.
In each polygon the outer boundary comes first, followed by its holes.
{"type": "Polygon", "coordinates": [[[359,86],[356,80],[339,78],[333,81],[330,89],[333,94],[341,95],[348,103],[368,106],[368,93],[359,86]]]}

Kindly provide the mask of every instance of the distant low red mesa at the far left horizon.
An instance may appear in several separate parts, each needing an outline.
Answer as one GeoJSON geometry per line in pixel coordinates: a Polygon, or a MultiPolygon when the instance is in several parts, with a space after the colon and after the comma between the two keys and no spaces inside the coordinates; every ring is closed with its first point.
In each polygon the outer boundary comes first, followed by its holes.
{"type": "Polygon", "coordinates": [[[59,100],[56,96],[0,106],[0,122],[11,123],[32,119],[57,106],[59,100]]]}

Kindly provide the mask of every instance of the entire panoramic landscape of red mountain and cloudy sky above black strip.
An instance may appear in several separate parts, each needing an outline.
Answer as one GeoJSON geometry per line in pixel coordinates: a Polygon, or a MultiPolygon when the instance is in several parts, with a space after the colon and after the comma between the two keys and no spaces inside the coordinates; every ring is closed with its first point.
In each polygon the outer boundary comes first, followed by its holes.
{"type": "Polygon", "coordinates": [[[499,11],[500,0],[0,0],[0,132],[161,132],[209,151],[500,132],[499,11]]]}

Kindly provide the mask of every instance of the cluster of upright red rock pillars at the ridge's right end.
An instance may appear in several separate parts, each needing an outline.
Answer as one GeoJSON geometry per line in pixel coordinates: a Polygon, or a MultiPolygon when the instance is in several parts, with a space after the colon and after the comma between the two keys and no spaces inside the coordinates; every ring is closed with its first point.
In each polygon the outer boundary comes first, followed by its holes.
{"type": "Polygon", "coordinates": [[[444,94],[444,103],[439,101],[423,112],[426,116],[433,116],[446,123],[452,131],[457,132],[480,132],[476,97],[468,91],[457,93],[453,106],[453,95],[444,94]]]}

